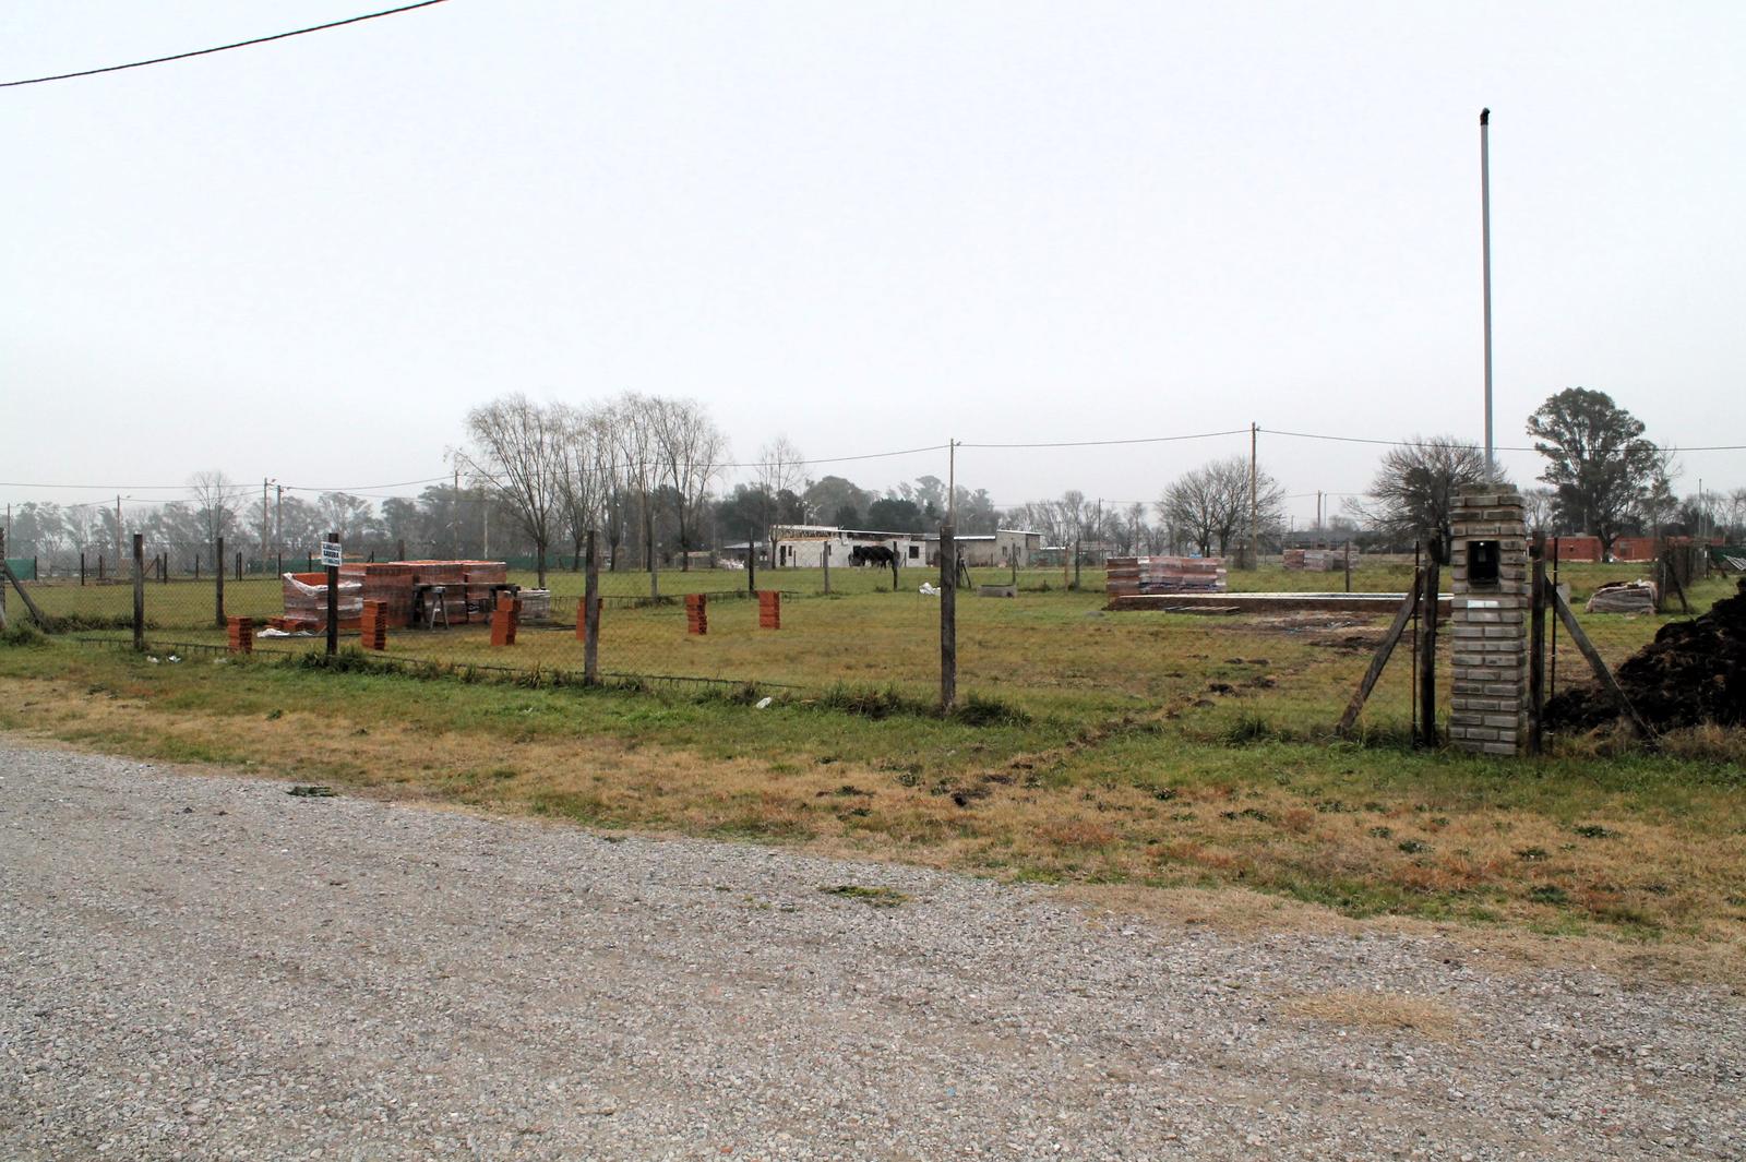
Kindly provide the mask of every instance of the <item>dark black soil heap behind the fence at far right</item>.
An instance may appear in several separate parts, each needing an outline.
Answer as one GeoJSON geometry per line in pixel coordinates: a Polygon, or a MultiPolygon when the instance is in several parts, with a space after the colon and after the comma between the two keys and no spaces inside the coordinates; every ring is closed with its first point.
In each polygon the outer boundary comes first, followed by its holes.
{"type": "MultiPolygon", "coordinates": [[[[1615,672],[1636,712],[1659,731],[1746,722],[1746,581],[1692,621],[1669,621],[1615,672]]],[[[1619,717],[1598,686],[1563,689],[1545,707],[1554,729],[1589,729],[1619,717]]]]}

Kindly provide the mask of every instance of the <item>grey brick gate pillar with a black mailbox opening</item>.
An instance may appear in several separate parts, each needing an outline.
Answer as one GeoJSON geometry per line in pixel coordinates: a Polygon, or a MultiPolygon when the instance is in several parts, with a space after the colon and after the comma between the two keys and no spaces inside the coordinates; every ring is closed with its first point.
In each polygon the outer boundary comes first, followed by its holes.
{"type": "Polygon", "coordinates": [[[1472,492],[1451,513],[1454,696],[1449,742],[1475,754],[1528,745],[1528,527],[1514,492],[1472,492]]]}

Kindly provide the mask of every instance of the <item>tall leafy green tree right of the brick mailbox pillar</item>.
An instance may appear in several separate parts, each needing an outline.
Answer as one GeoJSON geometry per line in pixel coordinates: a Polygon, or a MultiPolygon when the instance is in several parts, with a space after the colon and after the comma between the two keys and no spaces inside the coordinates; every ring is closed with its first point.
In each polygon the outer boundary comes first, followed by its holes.
{"type": "Polygon", "coordinates": [[[1552,485],[1556,518],[1599,537],[1603,555],[1666,483],[1666,457],[1643,438],[1643,420],[1605,391],[1566,387],[1528,417],[1528,434],[1547,459],[1540,480],[1552,485]]]}

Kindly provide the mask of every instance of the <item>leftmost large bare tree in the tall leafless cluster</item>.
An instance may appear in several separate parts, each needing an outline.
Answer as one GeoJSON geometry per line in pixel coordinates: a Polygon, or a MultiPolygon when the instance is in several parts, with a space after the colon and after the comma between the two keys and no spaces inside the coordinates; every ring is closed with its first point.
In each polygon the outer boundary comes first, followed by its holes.
{"type": "Polygon", "coordinates": [[[540,588],[545,588],[546,548],[557,523],[562,475],[562,419],[524,394],[510,394],[466,415],[470,450],[456,454],[534,543],[540,588]]]}

